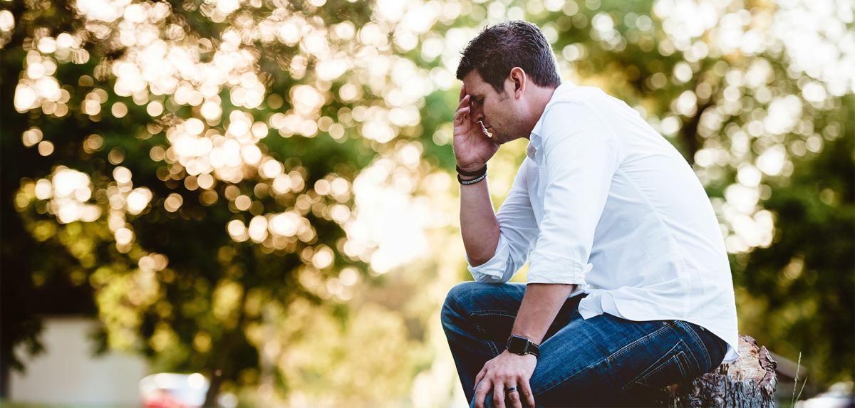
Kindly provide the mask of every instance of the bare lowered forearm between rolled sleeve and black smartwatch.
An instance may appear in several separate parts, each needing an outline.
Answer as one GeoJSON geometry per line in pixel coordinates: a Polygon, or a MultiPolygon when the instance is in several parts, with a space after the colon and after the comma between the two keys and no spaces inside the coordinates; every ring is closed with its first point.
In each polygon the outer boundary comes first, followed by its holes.
{"type": "Polygon", "coordinates": [[[528,340],[535,344],[543,342],[543,336],[576,286],[560,283],[528,283],[526,294],[522,296],[522,305],[516,313],[511,334],[528,337],[528,340]]]}

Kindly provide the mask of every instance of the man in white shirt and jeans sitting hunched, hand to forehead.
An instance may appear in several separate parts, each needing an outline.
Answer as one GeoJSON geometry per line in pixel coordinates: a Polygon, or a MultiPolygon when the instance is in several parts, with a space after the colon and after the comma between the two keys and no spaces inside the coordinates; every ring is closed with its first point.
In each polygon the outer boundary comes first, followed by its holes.
{"type": "Polygon", "coordinates": [[[487,27],[463,50],[454,114],[469,271],[442,309],[469,403],[641,401],[738,354],[728,257],[705,190],[601,90],[562,84],[543,33],[487,27]],[[529,139],[493,213],[486,162],[529,139]],[[507,283],[528,260],[528,283],[507,283]]]}

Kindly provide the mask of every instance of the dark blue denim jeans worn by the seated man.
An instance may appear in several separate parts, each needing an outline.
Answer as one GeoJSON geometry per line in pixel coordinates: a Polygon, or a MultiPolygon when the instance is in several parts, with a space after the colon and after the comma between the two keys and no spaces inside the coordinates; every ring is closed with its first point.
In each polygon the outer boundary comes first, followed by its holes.
{"type": "MultiPolygon", "coordinates": [[[[445,298],[442,326],[471,406],[475,376],[504,351],[525,290],[524,283],[464,282],[445,298]]],[[[638,406],[722,364],[727,343],[696,324],[607,313],[585,320],[578,311],[585,296],[564,302],[540,344],[529,381],[538,406],[638,406]]],[[[492,406],[492,392],[484,406],[492,406]]]]}

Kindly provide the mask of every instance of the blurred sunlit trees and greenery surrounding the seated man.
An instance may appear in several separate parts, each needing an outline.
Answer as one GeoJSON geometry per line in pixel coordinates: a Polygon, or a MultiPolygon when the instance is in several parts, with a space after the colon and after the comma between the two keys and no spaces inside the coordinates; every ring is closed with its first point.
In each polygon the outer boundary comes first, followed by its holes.
{"type": "MultiPolygon", "coordinates": [[[[439,325],[471,279],[454,72],[511,19],[693,166],[781,405],[851,395],[853,10],[0,0],[0,400],[465,406],[439,325]]],[[[490,162],[497,208],[525,147],[490,162]]]]}

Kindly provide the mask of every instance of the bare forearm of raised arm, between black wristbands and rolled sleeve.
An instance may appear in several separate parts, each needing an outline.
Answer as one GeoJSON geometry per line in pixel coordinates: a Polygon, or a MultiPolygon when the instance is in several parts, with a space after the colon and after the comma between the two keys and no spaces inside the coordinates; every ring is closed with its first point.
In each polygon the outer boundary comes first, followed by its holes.
{"type": "Polygon", "coordinates": [[[492,209],[486,179],[460,186],[460,232],[471,265],[481,265],[495,254],[498,219],[492,209]]]}

